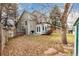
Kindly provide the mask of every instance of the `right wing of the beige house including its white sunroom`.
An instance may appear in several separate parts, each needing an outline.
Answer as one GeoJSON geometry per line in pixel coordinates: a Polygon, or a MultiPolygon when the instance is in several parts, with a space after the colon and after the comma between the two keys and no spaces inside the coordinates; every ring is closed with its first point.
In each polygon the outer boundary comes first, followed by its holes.
{"type": "Polygon", "coordinates": [[[52,31],[51,19],[38,11],[34,11],[32,14],[37,17],[36,34],[50,34],[52,31]]]}

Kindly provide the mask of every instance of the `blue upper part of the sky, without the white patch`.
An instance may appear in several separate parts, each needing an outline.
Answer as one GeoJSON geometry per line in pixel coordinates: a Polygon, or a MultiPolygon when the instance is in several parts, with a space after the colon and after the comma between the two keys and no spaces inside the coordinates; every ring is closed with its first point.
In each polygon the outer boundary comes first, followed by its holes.
{"type": "MultiPolygon", "coordinates": [[[[50,10],[55,6],[59,6],[59,8],[64,7],[63,3],[20,3],[18,5],[19,7],[19,12],[23,12],[24,10],[28,12],[33,12],[34,10],[38,10],[42,13],[49,13],[50,10]]],[[[79,3],[73,4],[73,9],[74,11],[79,11],[79,3]]]]}

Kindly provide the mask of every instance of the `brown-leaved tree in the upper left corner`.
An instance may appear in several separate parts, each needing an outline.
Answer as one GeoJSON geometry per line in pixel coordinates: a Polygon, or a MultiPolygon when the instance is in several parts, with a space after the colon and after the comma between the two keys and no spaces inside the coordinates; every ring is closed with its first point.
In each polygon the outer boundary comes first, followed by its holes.
{"type": "MultiPolygon", "coordinates": [[[[16,21],[17,17],[17,4],[16,3],[1,3],[0,4],[0,22],[4,27],[8,27],[8,19],[12,18],[13,21],[16,21]]],[[[11,23],[10,23],[11,25],[11,23]]]]}

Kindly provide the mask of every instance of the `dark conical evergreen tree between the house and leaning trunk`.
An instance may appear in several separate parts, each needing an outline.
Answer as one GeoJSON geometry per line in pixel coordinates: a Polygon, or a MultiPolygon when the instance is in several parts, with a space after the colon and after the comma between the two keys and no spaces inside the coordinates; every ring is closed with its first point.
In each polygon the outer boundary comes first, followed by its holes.
{"type": "Polygon", "coordinates": [[[60,9],[57,5],[55,5],[50,13],[50,18],[52,19],[52,28],[54,30],[60,28],[61,26],[60,17],[61,17],[60,9]]]}

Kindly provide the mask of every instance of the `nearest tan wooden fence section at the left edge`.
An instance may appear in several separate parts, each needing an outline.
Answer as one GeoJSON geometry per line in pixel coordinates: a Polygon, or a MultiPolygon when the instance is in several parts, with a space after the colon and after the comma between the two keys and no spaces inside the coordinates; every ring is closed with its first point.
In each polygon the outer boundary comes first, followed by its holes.
{"type": "Polygon", "coordinates": [[[5,47],[5,42],[7,40],[7,31],[3,29],[3,26],[0,24],[0,55],[3,55],[3,49],[5,47]]]}

